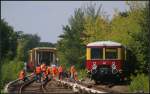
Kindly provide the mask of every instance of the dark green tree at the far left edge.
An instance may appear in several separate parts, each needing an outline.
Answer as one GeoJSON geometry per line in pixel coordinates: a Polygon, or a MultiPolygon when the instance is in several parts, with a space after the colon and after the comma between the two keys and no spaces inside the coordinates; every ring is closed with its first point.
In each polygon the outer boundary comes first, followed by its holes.
{"type": "Polygon", "coordinates": [[[17,32],[4,19],[0,22],[0,56],[13,59],[16,56],[17,32]]]}

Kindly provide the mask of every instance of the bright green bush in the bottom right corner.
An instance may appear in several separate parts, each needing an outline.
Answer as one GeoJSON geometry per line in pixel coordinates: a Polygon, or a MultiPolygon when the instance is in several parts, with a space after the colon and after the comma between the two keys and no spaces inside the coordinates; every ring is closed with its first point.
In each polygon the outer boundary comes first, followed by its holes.
{"type": "Polygon", "coordinates": [[[136,77],[131,77],[132,81],[129,85],[130,92],[143,91],[145,93],[149,92],[149,79],[148,76],[144,74],[138,74],[136,77]]]}

